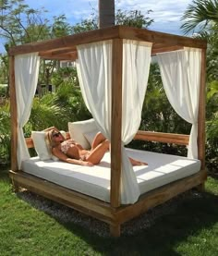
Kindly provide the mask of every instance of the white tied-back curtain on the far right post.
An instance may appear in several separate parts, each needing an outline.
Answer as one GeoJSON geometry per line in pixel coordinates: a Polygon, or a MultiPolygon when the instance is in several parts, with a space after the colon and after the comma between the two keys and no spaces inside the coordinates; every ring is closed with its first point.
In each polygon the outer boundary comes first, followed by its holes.
{"type": "Polygon", "coordinates": [[[192,124],[188,157],[198,158],[198,114],[201,50],[184,50],[157,55],[163,87],[176,113],[192,124]]]}

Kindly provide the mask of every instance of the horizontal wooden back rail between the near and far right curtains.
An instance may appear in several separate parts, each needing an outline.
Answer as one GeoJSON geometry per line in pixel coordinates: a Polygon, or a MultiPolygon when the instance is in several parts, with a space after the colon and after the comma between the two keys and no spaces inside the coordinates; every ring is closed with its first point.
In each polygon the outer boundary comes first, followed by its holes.
{"type": "Polygon", "coordinates": [[[139,130],[134,140],[148,140],[163,143],[188,145],[189,135],[139,130]]]}

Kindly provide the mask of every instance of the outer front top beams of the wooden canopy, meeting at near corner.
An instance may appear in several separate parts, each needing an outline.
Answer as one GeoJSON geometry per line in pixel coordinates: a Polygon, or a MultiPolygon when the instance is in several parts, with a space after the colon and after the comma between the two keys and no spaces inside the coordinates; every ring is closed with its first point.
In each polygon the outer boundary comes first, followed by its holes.
{"type": "Polygon", "coordinates": [[[165,46],[171,45],[202,49],[206,49],[207,47],[207,43],[203,40],[151,30],[142,30],[127,26],[114,26],[111,28],[91,30],[88,32],[69,35],[66,37],[38,43],[18,45],[10,48],[9,55],[23,55],[28,53],[51,51],[55,49],[66,50],[67,48],[75,47],[83,43],[94,43],[115,38],[160,43],[160,45],[164,44],[165,46]]]}

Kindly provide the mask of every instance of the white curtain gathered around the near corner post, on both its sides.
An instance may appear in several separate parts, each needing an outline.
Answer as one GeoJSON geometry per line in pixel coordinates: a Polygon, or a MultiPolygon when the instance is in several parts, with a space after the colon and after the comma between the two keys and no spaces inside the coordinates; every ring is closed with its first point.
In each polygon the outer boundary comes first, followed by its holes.
{"type": "MultiPolygon", "coordinates": [[[[141,108],[147,89],[151,43],[123,41],[122,144],[138,131],[141,108]]],[[[79,84],[85,103],[104,136],[111,137],[112,41],[78,47],[79,84]]],[[[125,148],[122,148],[121,202],[134,203],[139,185],[125,148]]]]}

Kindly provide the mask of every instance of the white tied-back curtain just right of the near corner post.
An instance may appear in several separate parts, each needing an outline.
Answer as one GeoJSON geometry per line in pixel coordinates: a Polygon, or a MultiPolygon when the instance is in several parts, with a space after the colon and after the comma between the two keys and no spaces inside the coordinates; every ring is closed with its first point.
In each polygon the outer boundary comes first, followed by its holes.
{"type": "MultiPolygon", "coordinates": [[[[123,41],[122,142],[129,143],[137,133],[151,66],[151,43],[123,41]]],[[[139,199],[139,185],[132,165],[122,148],[121,201],[139,199]],[[127,189],[126,189],[127,188],[127,189]]]]}

